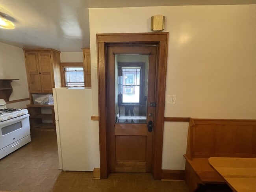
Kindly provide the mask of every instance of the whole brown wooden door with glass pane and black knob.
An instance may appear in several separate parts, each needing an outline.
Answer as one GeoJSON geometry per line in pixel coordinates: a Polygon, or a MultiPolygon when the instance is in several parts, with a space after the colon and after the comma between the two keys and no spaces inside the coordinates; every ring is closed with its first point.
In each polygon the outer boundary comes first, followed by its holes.
{"type": "Polygon", "coordinates": [[[151,172],[156,46],[109,46],[107,116],[110,172],[151,172]]]}

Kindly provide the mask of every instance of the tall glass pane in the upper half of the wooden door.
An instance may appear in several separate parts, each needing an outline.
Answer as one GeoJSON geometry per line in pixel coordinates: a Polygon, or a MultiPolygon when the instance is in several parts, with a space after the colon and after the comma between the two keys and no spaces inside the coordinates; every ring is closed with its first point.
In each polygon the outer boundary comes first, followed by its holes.
{"type": "Polygon", "coordinates": [[[148,55],[115,55],[116,123],[146,123],[148,55]]]}

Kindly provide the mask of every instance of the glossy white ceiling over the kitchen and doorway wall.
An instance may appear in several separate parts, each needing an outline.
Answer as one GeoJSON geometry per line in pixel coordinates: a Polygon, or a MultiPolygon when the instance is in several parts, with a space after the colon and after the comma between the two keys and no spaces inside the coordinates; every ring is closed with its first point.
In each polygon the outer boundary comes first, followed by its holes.
{"type": "Polygon", "coordinates": [[[0,14],[15,24],[0,42],[19,48],[80,52],[90,47],[88,8],[256,4],[256,0],[0,0],[0,14]]]}

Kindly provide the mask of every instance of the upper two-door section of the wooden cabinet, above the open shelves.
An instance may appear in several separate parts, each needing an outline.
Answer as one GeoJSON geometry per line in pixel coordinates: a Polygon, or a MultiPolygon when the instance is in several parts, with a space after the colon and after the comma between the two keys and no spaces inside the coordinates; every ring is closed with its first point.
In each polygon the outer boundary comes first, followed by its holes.
{"type": "Polygon", "coordinates": [[[52,88],[61,87],[59,54],[54,49],[24,49],[30,94],[52,93],[52,88]]]}

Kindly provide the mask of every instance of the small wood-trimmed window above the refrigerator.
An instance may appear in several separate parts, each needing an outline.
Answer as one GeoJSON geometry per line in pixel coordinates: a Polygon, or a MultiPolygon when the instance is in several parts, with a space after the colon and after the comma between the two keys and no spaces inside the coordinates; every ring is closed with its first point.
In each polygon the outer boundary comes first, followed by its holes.
{"type": "Polygon", "coordinates": [[[61,63],[62,87],[84,86],[83,63],[61,63]]]}

